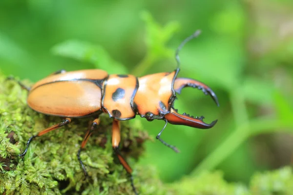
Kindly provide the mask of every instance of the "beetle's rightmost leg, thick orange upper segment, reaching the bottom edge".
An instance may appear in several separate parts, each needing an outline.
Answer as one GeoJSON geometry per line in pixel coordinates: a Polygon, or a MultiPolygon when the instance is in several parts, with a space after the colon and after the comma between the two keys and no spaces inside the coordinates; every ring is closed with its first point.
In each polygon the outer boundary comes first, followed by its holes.
{"type": "Polygon", "coordinates": [[[124,159],[124,157],[121,155],[120,150],[119,150],[119,143],[120,143],[121,137],[120,137],[120,121],[115,120],[113,121],[113,126],[112,126],[112,146],[115,154],[117,155],[120,163],[126,170],[126,172],[129,174],[130,179],[131,179],[131,186],[133,189],[133,192],[137,195],[136,189],[133,184],[133,177],[132,177],[132,169],[124,159]]]}

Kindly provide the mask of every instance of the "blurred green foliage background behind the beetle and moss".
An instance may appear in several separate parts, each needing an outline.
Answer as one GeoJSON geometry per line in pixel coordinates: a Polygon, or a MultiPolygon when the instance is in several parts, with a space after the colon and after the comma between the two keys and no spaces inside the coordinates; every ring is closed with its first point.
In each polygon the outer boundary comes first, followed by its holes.
{"type": "MultiPolygon", "coordinates": [[[[65,69],[100,68],[136,76],[176,68],[208,84],[220,107],[195,89],[176,100],[180,113],[218,119],[209,130],[167,125],[139,163],[174,181],[222,170],[247,183],[258,170],[293,163],[292,0],[1,0],[0,70],[33,82],[65,69]]],[[[137,117],[155,136],[164,121],[137,117]]]]}

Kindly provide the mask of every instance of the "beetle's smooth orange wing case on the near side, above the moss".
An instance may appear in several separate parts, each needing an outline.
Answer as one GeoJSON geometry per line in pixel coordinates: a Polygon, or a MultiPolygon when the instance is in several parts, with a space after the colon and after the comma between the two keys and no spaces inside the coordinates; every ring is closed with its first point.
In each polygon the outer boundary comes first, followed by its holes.
{"type": "Polygon", "coordinates": [[[60,117],[84,117],[101,109],[101,88],[92,81],[70,80],[42,84],[27,98],[35,111],[60,117]]]}

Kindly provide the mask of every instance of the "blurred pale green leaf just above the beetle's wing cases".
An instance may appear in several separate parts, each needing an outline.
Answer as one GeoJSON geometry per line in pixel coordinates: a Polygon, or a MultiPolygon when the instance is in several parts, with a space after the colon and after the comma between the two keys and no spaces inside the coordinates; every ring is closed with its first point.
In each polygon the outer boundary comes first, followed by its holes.
{"type": "Polygon", "coordinates": [[[58,56],[93,63],[97,68],[103,69],[109,74],[127,73],[125,66],[112,59],[100,45],[81,40],[67,40],[55,45],[52,51],[58,56]]]}

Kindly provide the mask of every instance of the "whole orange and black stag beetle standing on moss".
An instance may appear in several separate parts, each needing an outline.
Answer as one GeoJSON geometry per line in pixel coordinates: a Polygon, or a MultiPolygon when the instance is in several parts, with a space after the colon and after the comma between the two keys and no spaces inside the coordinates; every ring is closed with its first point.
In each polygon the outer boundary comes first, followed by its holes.
{"type": "MultiPolygon", "coordinates": [[[[105,71],[97,69],[72,72],[61,70],[38,81],[31,88],[19,82],[28,91],[27,104],[30,108],[45,115],[65,118],[62,122],[30,137],[24,152],[19,156],[26,154],[33,138],[67,125],[70,123],[71,118],[96,116],[77,154],[84,174],[87,175],[80,158],[80,152],[92,132],[99,125],[100,120],[98,117],[103,112],[113,118],[112,146],[121,164],[130,176],[132,169],[119,151],[121,120],[128,120],[136,115],[145,117],[147,120],[165,120],[166,124],[156,138],[167,147],[178,152],[174,146],[167,144],[160,138],[167,126],[167,122],[201,129],[209,129],[217,122],[215,120],[207,124],[203,121],[203,117],[190,117],[185,113],[181,115],[173,108],[176,97],[175,93],[179,94],[184,87],[201,89],[219,105],[215,93],[207,85],[191,78],[176,78],[180,64],[179,51],[186,42],[197,37],[199,33],[200,31],[196,31],[178,47],[176,51],[178,68],[172,72],[157,73],[137,78],[132,75],[108,75],[105,71]]],[[[132,176],[131,185],[134,193],[137,194],[132,176]]]]}

